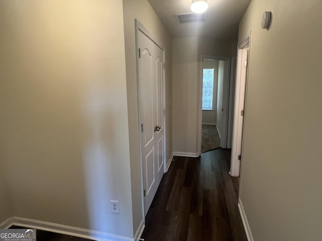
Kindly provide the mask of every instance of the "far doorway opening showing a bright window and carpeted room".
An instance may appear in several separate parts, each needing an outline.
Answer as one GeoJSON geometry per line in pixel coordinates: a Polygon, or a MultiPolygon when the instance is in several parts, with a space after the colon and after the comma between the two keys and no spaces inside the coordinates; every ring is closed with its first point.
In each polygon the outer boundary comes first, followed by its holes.
{"type": "Polygon", "coordinates": [[[201,56],[199,153],[231,148],[235,59],[201,56]]]}

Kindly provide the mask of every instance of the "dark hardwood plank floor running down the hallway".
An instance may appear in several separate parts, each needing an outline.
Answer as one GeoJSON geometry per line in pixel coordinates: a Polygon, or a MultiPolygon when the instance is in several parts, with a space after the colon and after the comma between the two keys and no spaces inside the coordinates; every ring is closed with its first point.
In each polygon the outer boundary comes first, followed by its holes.
{"type": "Polygon", "coordinates": [[[147,213],[144,241],[247,240],[225,152],[174,158],[147,213]]]}

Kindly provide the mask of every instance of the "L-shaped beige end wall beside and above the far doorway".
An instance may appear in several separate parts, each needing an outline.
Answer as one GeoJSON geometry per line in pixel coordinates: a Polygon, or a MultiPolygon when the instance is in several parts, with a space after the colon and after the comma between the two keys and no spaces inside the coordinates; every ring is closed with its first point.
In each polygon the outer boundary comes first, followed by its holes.
{"type": "Polygon", "coordinates": [[[232,45],[204,37],[173,40],[174,152],[198,154],[201,145],[201,55],[230,56],[232,45]]]}

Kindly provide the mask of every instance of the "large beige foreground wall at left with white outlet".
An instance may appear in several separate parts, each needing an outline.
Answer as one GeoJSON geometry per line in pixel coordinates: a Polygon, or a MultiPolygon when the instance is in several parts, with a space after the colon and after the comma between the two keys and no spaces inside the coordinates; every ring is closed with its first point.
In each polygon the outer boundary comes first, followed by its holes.
{"type": "Polygon", "coordinates": [[[133,236],[122,2],[4,0],[0,28],[12,215],[133,236]]]}

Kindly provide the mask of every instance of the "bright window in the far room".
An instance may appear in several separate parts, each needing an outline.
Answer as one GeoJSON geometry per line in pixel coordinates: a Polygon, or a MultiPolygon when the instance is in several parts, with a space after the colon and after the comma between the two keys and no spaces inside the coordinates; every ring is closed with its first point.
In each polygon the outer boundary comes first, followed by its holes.
{"type": "Polygon", "coordinates": [[[212,110],[213,106],[213,69],[203,69],[202,109],[212,110]]]}

